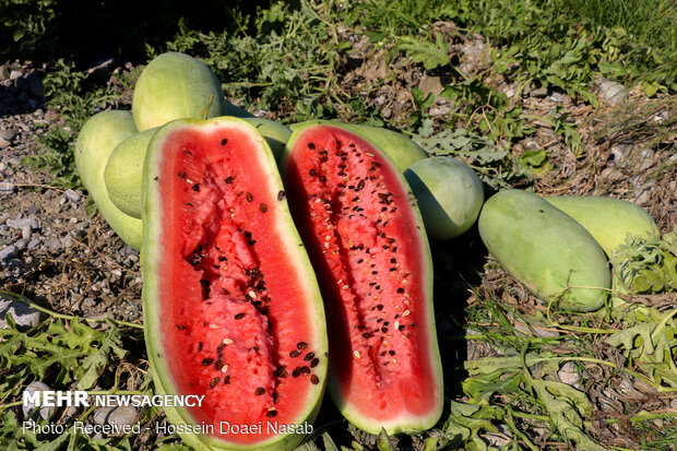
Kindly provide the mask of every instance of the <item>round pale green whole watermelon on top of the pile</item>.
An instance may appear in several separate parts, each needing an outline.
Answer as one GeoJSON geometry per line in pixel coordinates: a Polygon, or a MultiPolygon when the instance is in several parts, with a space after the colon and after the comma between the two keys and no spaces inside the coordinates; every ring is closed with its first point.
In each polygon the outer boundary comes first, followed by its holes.
{"type": "Polygon", "coordinates": [[[225,115],[227,103],[216,74],[186,54],[159,55],[145,67],[134,86],[132,114],[139,131],[181,118],[225,115]],[[209,110],[207,110],[209,106],[209,110]]]}

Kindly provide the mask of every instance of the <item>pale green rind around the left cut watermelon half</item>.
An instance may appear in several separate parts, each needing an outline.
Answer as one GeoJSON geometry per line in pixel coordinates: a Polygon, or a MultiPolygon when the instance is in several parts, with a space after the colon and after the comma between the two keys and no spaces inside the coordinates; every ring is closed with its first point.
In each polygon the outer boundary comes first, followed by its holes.
{"type": "MultiPolygon", "coordinates": [[[[149,360],[151,363],[151,375],[155,382],[155,390],[161,394],[177,393],[177,390],[169,376],[170,371],[166,360],[163,358],[164,349],[159,340],[162,336],[159,329],[162,321],[162,302],[157,296],[159,286],[157,268],[159,261],[163,259],[162,242],[158,241],[162,211],[159,209],[159,192],[154,188],[153,181],[154,178],[159,175],[157,168],[163,159],[163,154],[159,150],[167,137],[175,130],[206,126],[217,127],[223,123],[240,127],[248,133],[254,134],[260,140],[261,150],[263,151],[262,158],[264,158],[265,167],[270,168],[265,177],[274,185],[273,189],[283,190],[282,179],[277,173],[275,159],[269,145],[257,129],[242,119],[234,117],[217,117],[209,120],[177,119],[162,127],[153,137],[149,145],[143,169],[142,218],[144,222],[144,246],[142,249],[142,299],[145,343],[149,360]]],[[[304,250],[300,236],[294,226],[286,199],[281,200],[277,206],[280,209],[281,218],[278,222],[278,230],[281,236],[285,238],[284,241],[287,244],[288,254],[294,256],[296,259],[296,268],[298,270],[296,273],[297,276],[306,281],[306,289],[309,294],[308,298],[314,300],[311,306],[313,310],[312,317],[314,318],[312,323],[316,324],[312,343],[314,348],[318,349],[318,354],[324,354],[328,352],[329,342],[320,288],[314,277],[310,260],[304,250]]],[[[326,359],[321,359],[320,364],[313,368],[313,371],[316,371],[316,375],[320,379],[320,383],[310,387],[307,408],[299,413],[297,420],[293,422],[295,424],[304,424],[305,422],[311,423],[320,410],[326,380],[326,359]]],[[[188,411],[183,407],[165,407],[164,412],[174,425],[195,424],[188,411]]],[[[181,438],[198,450],[289,450],[298,444],[305,438],[305,435],[290,434],[286,436],[274,436],[270,440],[257,443],[257,446],[242,446],[226,442],[215,437],[194,434],[181,434],[181,438]]]]}

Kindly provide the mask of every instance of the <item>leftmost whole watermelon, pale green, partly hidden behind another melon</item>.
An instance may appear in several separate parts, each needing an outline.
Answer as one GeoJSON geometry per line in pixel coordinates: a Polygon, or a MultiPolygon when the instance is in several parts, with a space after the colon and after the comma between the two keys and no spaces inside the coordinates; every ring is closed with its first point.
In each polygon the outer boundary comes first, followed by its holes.
{"type": "Polygon", "coordinates": [[[139,250],[143,241],[141,219],[118,209],[108,195],[104,173],[115,147],[136,133],[129,111],[102,111],[82,127],[75,143],[75,167],[83,185],[110,227],[122,240],[139,250]]]}

